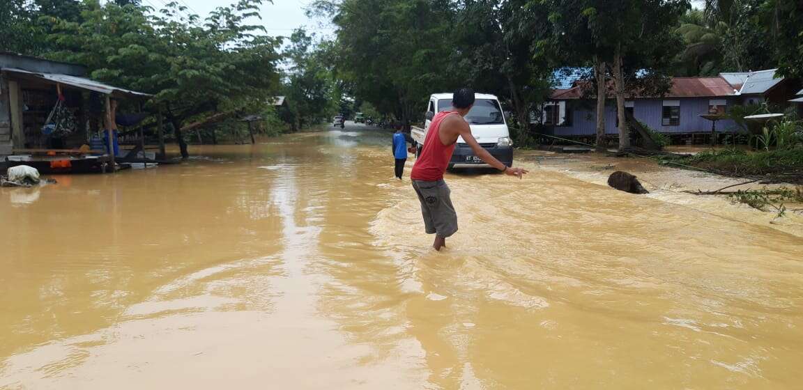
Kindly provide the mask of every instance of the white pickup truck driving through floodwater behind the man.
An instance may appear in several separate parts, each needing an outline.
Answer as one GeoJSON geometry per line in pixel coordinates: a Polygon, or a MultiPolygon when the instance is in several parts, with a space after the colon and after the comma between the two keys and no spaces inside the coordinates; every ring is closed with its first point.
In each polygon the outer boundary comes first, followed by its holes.
{"type": "MultiPolygon", "coordinates": [[[[474,95],[474,107],[465,116],[465,120],[471,127],[471,134],[480,146],[491,153],[491,156],[502,161],[504,165],[513,165],[513,141],[510,132],[507,130],[502,107],[499,99],[495,95],[478,93],[474,95]]],[[[426,121],[424,128],[412,128],[410,136],[416,142],[416,156],[421,152],[421,148],[430,130],[430,121],[436,112],[442,112],[451,108],[452,94],[436,93],[430,95],[430,102],[426,109],[426,121]]],[[[485,165],[483,160],[474,155],[474,151],[466,144],[463,137],[457,139],[457,146],[454,148],[449,168],[460,165],[485,165]]]]}

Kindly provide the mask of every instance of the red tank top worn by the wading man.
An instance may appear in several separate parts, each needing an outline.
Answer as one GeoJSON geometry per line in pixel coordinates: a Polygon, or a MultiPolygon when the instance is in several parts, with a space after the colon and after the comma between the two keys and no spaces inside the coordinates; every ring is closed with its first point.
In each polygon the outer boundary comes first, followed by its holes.
{"type": "Polygon", "coordinates": [[[441,142],[440,128],[441,122],[449,114],[456,112],[443,111],[435,114],[430,122],[430,129],[426,132],[426,140],[421,150],[421,156],[415,160],[413,172],[410,178],[413,180],[438,181],[443,178],[443,173],[449,166],[451,154],[454,152],[454,145],[444,145],[441,142]]]}

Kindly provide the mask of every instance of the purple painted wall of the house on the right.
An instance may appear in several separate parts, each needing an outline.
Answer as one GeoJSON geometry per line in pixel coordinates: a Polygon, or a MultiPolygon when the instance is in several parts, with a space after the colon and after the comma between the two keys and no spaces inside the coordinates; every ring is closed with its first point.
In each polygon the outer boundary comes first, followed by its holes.
{"type": "MultiPolygon", "coordinates": [[[[680,100],[680,125],[663,126],[662,112],[663,99],[638,99],[634,100],[633,115],[643,124],[650,126],[658,132],[679,133],[679,132],[711,132],[711,121],[700,117],[701,114],[708,113],[709,100],[715,98],[692,98],[692,99],[666,99],[680,100]]],[[[719,98],[722,99],[722,98],[719,98]]],[[[740,100],[726,99],[728,106],[741,103],[740,100]]],[[[567,104],[573,104],[570,109],[572,115],[571,126],[555,126],[552,133],[556,136],[585,136],[597,132],[597,114],[594,102],[581,104],[577,100],[568,100],[567,104]],[[590,104],[589,104],[590,103],[590,104]],[[579,106],[579,107],[578,107],[579,106]]],[[[717,132],[730,132],[736,130],[737,126],[732,120],[719,120],[716,123],[717,132]]],[[[616,128],[616,107],[609,104],[605,107],[605,133],[617,134],[616,128]]]]}

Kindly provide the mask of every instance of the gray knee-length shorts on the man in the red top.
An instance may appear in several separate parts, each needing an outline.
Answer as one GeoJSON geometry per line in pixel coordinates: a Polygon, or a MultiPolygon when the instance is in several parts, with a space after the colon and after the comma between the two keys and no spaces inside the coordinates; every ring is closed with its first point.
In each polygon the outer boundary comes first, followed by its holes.
{"type": "Polygon", "coordinates": [[[413,188],[421,201],[426,234],[446,238],[457,232],[457,213],[451,204],[451,190],[446,181],[414,180],[413,188]]]}

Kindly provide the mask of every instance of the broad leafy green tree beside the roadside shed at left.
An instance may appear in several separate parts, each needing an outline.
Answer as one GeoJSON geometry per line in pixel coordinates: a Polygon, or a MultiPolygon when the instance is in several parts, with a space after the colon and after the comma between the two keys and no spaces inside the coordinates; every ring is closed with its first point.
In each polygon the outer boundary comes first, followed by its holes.
{"type": "Polygon", "coordinates": [[[189,156],[181,134],[187,120],[222,112],[259,112],[279,87],[279,41],[256,35],[246,24],[259,17],[259,0],[218,7],[203,25],[181,18],[184,8],[149,8],[107,2],[85,3],[81,22],[56,19],[51,58],[83,63],[92,78],[153,93],[152,106],[166,108],[181,155],[189,156]]]}

